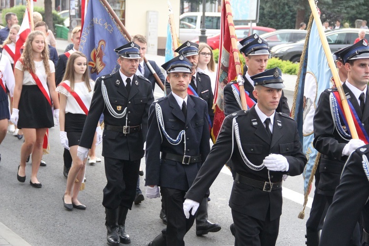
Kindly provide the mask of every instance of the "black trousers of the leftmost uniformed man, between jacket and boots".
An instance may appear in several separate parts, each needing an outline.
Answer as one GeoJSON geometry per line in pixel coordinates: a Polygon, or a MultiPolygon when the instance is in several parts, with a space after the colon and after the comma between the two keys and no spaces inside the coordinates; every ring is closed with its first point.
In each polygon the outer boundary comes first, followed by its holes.
{"type": "Polygon", "coordinates": [[[136,196],[141,160],[127,161],[104,157],[107,184],[103,190],[102,205],[107,209],[119,206],[132,208],[136,196]]]}

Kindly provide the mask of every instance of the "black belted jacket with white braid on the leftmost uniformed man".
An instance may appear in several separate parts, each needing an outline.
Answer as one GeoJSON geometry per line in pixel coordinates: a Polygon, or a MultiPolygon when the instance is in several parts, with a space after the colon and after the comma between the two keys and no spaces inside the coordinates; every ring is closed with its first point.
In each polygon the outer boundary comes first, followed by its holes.
{"type": "Polygon", "coordinates": [[[141,131],[124,135],[123,132],[103,132],[102,155],[121,160],[139,160],[144,156],[144,141],[146,141],[147,122],[150,105],[154,101],[151,83],[143,76],[133,76],[131,90],[128,95],[122,81],[121,74],[117,71],[111,75],[105,75],[96,79],[89,114],[79,145],[91,148],[97,122],[101,113],[104,113],[104,123],[112,126],[123,127],[141,126],[141,131]],[[122,113],[127,107],[123,118],[116,118],[110,114],[104,102],[101,92],[101,81],[104,81],[109,97],[109,102],[117,113],[122,113]]]}

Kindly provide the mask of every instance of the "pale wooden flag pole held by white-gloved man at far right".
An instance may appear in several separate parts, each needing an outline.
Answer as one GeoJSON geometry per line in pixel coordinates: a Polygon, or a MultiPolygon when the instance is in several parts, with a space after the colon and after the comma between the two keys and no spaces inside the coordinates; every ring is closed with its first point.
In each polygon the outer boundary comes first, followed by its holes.
{"type": "Polygon", "coordinates": [[[311,12],[314,16],[314,20],[316,22],[316,26],[317,26],[317,29],[318,29],[318,32],[319,32],[320,40],[322,41],[322,46],[323,46],[325,55],[326,55],[327,60],[328,60],[328,65],[331,68],[331,71],[332,71],[332,74],[333,74],[334,82],[336,84],[336,87],[337,87],[337,90],[338,90],[338,93],[339,93],[339,98],[342,102],[343,111],[344,111],[344,114],[345,114],[345,117],[346,117],[346,120],[347,120],[347,123],[348,123],[348,128],[350,129],[351,137],[352,137],[352,139],[359,139],[358,133],[357,133],[355,125],[354,125],[354,121],[352,119],[350,108],[348,107],[346,95],[343,91],[342,83],[341,83],[341,80],[339,79],[338,71],[336,69],[335,62],[333,61],[333,57],[332,57],[331,49],[329,48],[329,45],[328,45],[327,37],[324,35],[322,22],[320,20],[318,10],[316,9],[316,5],[315,5],[314,0],[309,0],[309,4],[310,4],[311,12]]]}

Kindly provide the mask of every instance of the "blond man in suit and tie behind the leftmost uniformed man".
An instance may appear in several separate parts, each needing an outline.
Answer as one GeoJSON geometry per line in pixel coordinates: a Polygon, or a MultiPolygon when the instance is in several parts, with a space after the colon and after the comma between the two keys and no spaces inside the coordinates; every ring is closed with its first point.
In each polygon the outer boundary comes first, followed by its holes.
{"type": "MultiPolygon", "coordinates": [[[[156,79],[154,77],[153,72],[150,70],[150,68],[148,67],[148,65],[144,61],[146,51],[147,51],[146,37],[144,35],[140,35],[140,34],[134,35],[134,36],[132,36],[132,41],[137,43],[138,46],[140,46],[140,60],[139,60],[138,70],[136,71],[136,75],[143,75],[145,78],[149,79],[152,86],[153,86],[153,92],[154,92],[156,79]]],[[[148,60],[148,62],[150,63],[151,67],[154,69],[157,76],[160,78],[161,82],[164,84],[165,83],[165,77],[164,77],[163,73],[161,72],[160,68],[155,63],[155,61],[148,60]]],[[[141,170],[141,168],[140,168],[140,170],[141,170]]],[[[140,175],[143,175],[143,172],[140,175]]],[[[144,197],[144,195],[142,195],[142,191],[140,189],[140,177],[138,177],[137,188],[136,188],[136,198],[134,199],[134,204],[136,204],[136,205],[140,204],[143,200],[145,200],[145,197],[144,197]]]]}

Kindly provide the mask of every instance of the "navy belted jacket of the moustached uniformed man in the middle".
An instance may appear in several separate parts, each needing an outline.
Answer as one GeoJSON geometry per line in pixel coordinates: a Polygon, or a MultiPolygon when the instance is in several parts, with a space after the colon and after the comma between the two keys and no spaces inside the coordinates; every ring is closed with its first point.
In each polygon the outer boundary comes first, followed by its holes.
{"type": "MultiPolygon", "coordinates": [[[[146,184],[161,187],[188,190],[195,179],[202,163],[210,152],[208,107],[204,100],[196,96],[187,97],[187,118],[170,93],[160,98],[150,107],[149,131],[146,141],[146,184]],[[161,106],[165,131],[176,139],[185,130],[185,136],[177,144],[171,144],[158,126],[155,105],[161,106]],[[178,161],[160,159],[160,152],[184,155],[201,155],[201,162],[184,165],[178,161]]],[[[203,196],[204,198],[204,196],[203,196]]]]}

